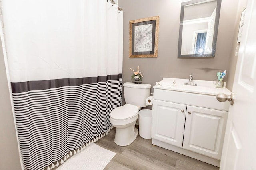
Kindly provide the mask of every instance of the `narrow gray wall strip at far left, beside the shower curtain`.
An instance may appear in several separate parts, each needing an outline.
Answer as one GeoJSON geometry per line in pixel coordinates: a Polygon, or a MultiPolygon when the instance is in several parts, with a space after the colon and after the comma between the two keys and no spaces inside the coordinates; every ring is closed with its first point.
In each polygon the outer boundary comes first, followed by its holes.
{"type": "Polygon", "coordinates": [[[1,41],[0,77],[0,170],[21,170],[1,41]]]}

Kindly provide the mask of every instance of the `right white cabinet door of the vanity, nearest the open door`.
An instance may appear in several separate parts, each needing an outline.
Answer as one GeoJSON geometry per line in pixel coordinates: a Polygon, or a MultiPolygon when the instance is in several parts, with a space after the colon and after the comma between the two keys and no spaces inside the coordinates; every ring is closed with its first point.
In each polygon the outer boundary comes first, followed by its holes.
{"type": "Polygon", "coordinates": [[[220,160],[228,112],[187,106],[183,148],[220,160]]]}

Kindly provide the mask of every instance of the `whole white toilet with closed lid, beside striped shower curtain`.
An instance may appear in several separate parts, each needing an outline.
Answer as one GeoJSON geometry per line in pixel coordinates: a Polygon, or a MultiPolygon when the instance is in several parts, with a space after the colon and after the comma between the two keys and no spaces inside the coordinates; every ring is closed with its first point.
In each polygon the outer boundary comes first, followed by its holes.
{"type": "Polygon", "coordinates": [[[110,113],[110,123],[116,127],[114,142],[119,146],[130,145],[138,135],[135,128],[138,111],[148,106],[146,98],[150,96],[150,84],[134,84],[126,82],[124,86],[124,106],[113,109],[110,113]]]}

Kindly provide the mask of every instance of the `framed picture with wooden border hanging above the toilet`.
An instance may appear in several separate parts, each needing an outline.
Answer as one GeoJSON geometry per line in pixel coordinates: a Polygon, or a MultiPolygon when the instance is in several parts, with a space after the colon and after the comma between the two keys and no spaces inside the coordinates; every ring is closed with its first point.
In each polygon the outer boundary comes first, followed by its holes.
{"type": "Polygon", "coordinates": [[[132,20],[129,26],[129,57],[157,57],[159,16],[132,20]]]}

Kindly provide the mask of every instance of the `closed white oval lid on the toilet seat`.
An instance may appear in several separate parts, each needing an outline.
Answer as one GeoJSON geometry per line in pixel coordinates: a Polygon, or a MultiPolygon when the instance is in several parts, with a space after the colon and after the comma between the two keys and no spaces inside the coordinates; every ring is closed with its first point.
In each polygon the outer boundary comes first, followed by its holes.
{"type": "Polygon", "coordinates": [[[138,114],[138,107],[132,104],[125,104],[124,106],[116,107],[110,113],[113,119],[128,119],[138,114]]]}

